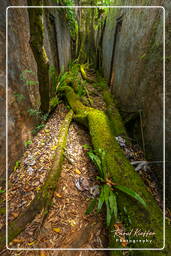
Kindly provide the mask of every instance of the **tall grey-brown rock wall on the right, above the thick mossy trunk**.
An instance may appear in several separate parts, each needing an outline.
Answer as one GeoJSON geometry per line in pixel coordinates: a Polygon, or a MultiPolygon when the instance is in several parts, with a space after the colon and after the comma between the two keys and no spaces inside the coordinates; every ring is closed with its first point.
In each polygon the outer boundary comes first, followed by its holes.
{"type": "MultiPolygon", "coordinates": [[[[122,5],[122,1],[117,1],[122,5]]],[[[131,1],[130,5],[137,5],[131,1]]],[[[144,5],[153,5],[147,1],[144,5]]],[[[162,5],[159,1],[158,5],[162,5]]],[[[124,2],[127,5],[127,1],[124,2]]],[[[169,10],[166,32],[169,43],[169,10]]],[[[103,69],[123,113],[142,116],[145,151],[148,159],[163,161],[163,14],[162,8],[111,9],[103,36],[103,69]]],[[[166,158],[171,154],[170,67],[171,48],[166,45],[166,158]]],[[[157,174],[161,176],[161,172],[157,174]]],[[[171,172],[166,168],[167,195],[171,194],[171,172]]]]}

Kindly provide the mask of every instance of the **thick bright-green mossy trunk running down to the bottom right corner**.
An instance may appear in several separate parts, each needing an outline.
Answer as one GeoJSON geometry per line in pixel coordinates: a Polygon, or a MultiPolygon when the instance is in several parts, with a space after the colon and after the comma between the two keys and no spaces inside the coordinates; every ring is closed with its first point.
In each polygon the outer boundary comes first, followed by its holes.
{"type": "MultiPolygon", "coordinates": [[[[146,202],[147,209],[143,208],[138,201],[133,200],[129,196],[120,192],[118,195],[119,209],[121,221],[124,223],[125,232],[132,231],[130,239],[133,241],[127,247],[131,248],[162,248],[163,247],[163,214],[156,201],[148,192],[145,184],[140,176],[136,173],[132,165],[125,157],[122,149],[115,140],[108,117],[103,111],[99,111],[84,106],[79,97],[69,86],[63,88],[66,98],[73,109],[76,119],[82,124],[87,124],[91,135],[94,149],[105,151],[105,161],[107,165],[108,175],[114,183],[125,186],[138,193],[146,202]],[[123,209],[127,209],[127,217],[131,219],[129,224],[124,219],[123,209]],[[136,232],[137,230],[137,233],[136,232]],[[152,232],[153,235],[143,235],[144,232],[152,232]],[[146,241],[146,239],[148,241],[146,241]],[[135,242],[134,242],[135,240],[135,242]],[[139,242],[141,240],[142,242],[139,242]],[[143,241],[145,240],[145,242],[143,241]]],[[[118,115],[118,113],[117,113],[118,115]]],[[[120,119],[121,120],[121,119],[120,119]]],[[[119,236],[115,236],[114,222],[109,230],[110,248],[120,248],[121,243],[117,240],[119,236]]],[[[167,230],[170,236],[171,230],[167,230]]],[[[170,236],[171,237],[171,236],[170,236]]],[[[167,244],[170,247],[169,243],[167,244]]],[[[131,252],[133,254],[133,251],[131,252]]],[[[159,252],[167,255],[164,251],[159,252]]],[[[113,255],[122,255],[120,251],[114,251],[113,255]]],[[[136,251],[135,255],[142,255],[141,251],[136,251]]],[[[146,251],[145,255],[156,255],[156,251],[146,251]]]]}

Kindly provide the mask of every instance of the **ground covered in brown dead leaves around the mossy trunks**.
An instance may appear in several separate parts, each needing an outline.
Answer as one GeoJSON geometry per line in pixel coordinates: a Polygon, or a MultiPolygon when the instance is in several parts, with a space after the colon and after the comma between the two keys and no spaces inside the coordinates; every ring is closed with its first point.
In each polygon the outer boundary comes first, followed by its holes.
{"type": "MultiPolygon", "coordinates": [[[[106,106],[100,91],[90,84],[87,86],[93,99],[93,107],[105,110],[106,106]]],[[[33,200],[39,191],[46,174],[52,167],[55,145],[59,128],[68,112],[64,104],[59,104],[45,127],[33,138],[20,164],[9,177],[8,209],[9,221],[15,219],[33,200]]],[[[122,141],[123,143],[123,141],[122,141]]],[[[28,224],[25,231],[10,244],[11,248],[106,248],[108,243],[105,228],[105,213],[85,215],[92,198],[98,194],[97,169],[87,156],[84,145],[91,145],[88,131],[72,122],[67,138],[65,160],[61,177],[57,183],[51,209],[42,221],[42,213],[28,224]]],[[[122,145],[123,146],[123,145],[122,145]]],[[[143,154],[138,149],[126,145],[125,154],[133,161],[143,161],[143,154]]],[[[149,171],[138,170],[148,189],[161,206],[157,185],[151,180],[149,171]]],[[[5,219],[0,220],[0,228],[5,219]]],[[[107,251],[7,251],[5,255],[23,256],[60,256],[60,255],[108,255],[107,251]]],[[[123,254],[126,255],[126,254],[123,254]]]]}

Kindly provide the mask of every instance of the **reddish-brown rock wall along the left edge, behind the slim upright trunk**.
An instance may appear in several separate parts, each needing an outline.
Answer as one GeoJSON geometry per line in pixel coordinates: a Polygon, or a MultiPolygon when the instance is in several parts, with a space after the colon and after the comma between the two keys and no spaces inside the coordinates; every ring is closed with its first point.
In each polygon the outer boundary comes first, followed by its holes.
{"type": "MultiPolygon", "coordinates": [[[[5,113],[6,113],[6,8],[10,5],[26,4],[26,1],[1,1],[0,11],[0,183],[5,180],[5,113]]],[[[32,52],[27,46],[28,23],[24,10],[11,12],[8,10],[8,141],[9,141],[9,170],[24,149],[23,142],[30,137],[29,129],[32,120],[28,120],[27,107],[34,103],[36,93],[33,88],[26,86],[20,79],[24,69],[36,68],[32,52]],[[25,14],[25,15],[24,15],[25,14]],[[17,24],[18,23],[18,24],[17,24]],[[16,26],[17,24],[17,26],[16,26]],[[23,27],[25,30],[23,30],[23,27]],[[18,48],[18,47],[21,47],[18,48]],[[34,97],[33,97],[34,95],[34,97]],[[18,130],[19,129],[19,130],[18,130]]]]}

